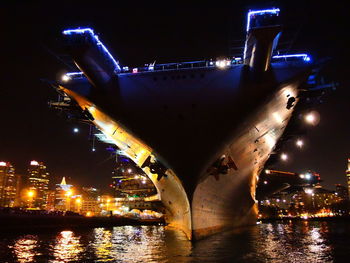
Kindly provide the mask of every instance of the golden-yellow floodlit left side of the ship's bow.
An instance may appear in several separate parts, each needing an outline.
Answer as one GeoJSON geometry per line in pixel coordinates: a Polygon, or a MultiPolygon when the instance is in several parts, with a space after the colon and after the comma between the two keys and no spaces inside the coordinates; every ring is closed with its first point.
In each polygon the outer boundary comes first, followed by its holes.
{"type": "MultiPolygon", "coordinates": [[[[103,140],[117,145],[136,165],[141,167],[148,157],[155,158],[149,146],[131,135],[130,132],[99,110],[92,102],[64,87],[61,87],[61,90],[73,98],[82,109],[88,109],[94,117],[94,125],[104,134],[103,140]]],[[[158,180],[158,174],[152,173],[149,167],[144,167],[143,171],[154,183],[160,199],[168,211],[166,219],[169,226],[181,229],[191,239],[190,205],[179,178],[171,169],[168,169],[166,177],[162,177],[160,180],[158,180]]]]}

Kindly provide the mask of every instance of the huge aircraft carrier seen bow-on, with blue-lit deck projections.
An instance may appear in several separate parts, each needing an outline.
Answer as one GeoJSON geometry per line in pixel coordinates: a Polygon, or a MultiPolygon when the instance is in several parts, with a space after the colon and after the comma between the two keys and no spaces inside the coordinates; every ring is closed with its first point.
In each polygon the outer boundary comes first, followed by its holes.
{"type": "Polygon", "coordinates": [[[54,107],[93,124],[155,184],[170,226],[199,239],[255,223],[257,181],[313,63],[274,55],[280,10],[247,14],[243,57],[128,68],[91,28],[63,31],[79,72],[54,107]]]}

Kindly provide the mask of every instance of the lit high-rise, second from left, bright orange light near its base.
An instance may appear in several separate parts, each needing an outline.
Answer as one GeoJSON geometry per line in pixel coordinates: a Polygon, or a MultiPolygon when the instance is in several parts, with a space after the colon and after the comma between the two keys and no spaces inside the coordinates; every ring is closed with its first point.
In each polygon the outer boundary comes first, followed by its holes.
{"type": "Polygon", "coordinates": [[[32,207],[45,209],[49,191],[49,173],[43,162],[31,161],[28,168],[28,184],[33,191],[32,207]]]}

